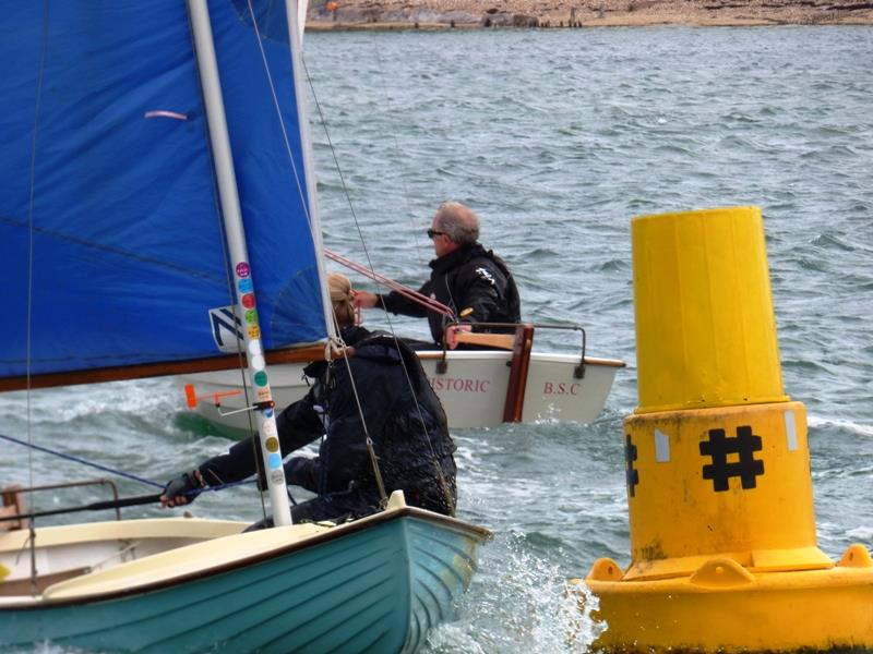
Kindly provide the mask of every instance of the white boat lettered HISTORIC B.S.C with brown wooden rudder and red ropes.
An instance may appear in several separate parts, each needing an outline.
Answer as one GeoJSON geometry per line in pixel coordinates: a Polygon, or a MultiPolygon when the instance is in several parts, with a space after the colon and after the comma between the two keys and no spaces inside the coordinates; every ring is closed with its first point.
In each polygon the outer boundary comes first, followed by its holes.
{"type": "MultiPolygon", "coordinates": [[[[396,290],[428,311],[456,319],[452,310],[432,298],[403,287],[396,281],[324,251],[334,262],[369,277],[381,288],[396,290]]],[[[504,326],[505,327],[505,326],[504,326]]],[[[238,330],[230,322],[216,325],[232,337],[238,330]]],[[[521,324],[515,336],[461,334],[459,342],[477,344],[476,350],[422,350],[422,366],[440,398],[451,428],[492,427],[504,422],[534,423],[561,421],[589,423],[606,405],[615,373],[625,366],[618,359],[586,355],[585,330],[578,325],[521,324]],[[537,329],[565,329],[582,334],[578,354],[533,351],[537,329]],[[486,347],[494,347],[487,350],[486,347]]],[[[302,352],[273,353],[272,388],[276,405],[284,409],[302,398],[310,383],[303,375],[307,356],[302,352]]],[[[253,423],[251,387],[239,373],[226,370],[201,371],[178,378],[188,398],[188,410],[211,423],[230,438],[249,436],[253,423]]]]}

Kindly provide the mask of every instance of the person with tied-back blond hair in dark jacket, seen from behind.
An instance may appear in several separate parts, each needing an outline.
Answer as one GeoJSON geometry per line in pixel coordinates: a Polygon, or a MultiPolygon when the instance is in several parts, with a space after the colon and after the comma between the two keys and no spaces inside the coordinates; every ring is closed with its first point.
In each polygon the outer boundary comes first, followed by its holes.
{"type": "MultiPolygon", "coordinates": [[[[354,325],[348,278],[331,275],[328,283],[343,340],[354,355],[307,366],[312,388],[276,420],[283,456],[323,438],[318,457],[285,463],[289,484],[316,494],[291,508],[292,520],[339,521],[379,510],[383,496],[374,458],[386,495],[403,489],[409,505],[454,514],[456,448],[418,356],[390,335],[354,325]]],[[[259,470],[255,435],[172,480],[160,500],[184,505],[203,487],[244,480],[259,470]]]]}

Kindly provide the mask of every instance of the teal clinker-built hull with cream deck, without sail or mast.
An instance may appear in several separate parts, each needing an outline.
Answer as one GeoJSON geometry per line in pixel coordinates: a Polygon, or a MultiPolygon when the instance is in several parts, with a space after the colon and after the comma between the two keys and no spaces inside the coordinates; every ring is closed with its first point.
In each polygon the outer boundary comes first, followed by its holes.
{"type": "Polygon", "coordinates": [[[486,530],[407,507],[339,526],[240,533],[125,520],[0,535],[0,644],[88,651],[415,652],[452,619],[486,530]],[[38,590],[32,594],[32,581],[38,590]]]}

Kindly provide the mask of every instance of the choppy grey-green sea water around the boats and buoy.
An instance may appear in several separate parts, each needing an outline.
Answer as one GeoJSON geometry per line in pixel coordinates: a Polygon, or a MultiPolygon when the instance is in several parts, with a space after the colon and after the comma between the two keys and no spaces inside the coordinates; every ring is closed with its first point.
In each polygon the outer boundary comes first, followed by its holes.
{"type": "MultiPolygon", "coordinates": [[[[495,540],[430,652],[585,651],[597,627],[564,581],[601,556],[629,562],[621,421],[636,407],[630,220],[642,214],[762,208],[785,388],[810,414],[820,546],[835,558],[873,546],[873,28],[307,34],[304,50],[327,247],[417,284],[433,209],[465,202],[526,319],[579,323],[590,354],[629,364],[593,424],[454,434],[461,516],[495,540]]],[[[228,445],[181,407],[170,379],[11,393],[0,433],[164,482],[228,445]]],[[[3,452],[3,483],[94,476],[3,452]]],[[[255,504],[239,491],[194,511],[254,520],[255,504]]]]}

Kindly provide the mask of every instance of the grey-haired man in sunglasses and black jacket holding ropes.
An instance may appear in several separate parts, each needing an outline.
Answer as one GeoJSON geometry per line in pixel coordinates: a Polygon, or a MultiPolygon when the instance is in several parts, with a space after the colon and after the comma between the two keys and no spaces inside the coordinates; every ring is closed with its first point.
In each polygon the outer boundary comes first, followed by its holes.
{"type": "Polygon", "coordinates": [[[450,306],[459,326],[446,329],[449,318],[392,291],[376,294],[356,291],[355,304],[362,308],[384,306],[406,316],[427,317],[433,342],[456,346],[457,329],[512,332],[513,328],[474,327],[477,323],[518,323],[522,303],[518,289],[506,264],[479,242],[479,219],[467,206],[444,202],[438,208],[428,230],[436,258],[430,262],[430,280],[420,293],[450,306]]]}

